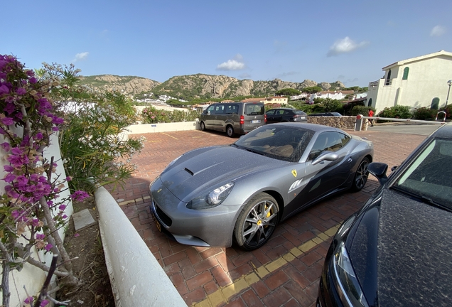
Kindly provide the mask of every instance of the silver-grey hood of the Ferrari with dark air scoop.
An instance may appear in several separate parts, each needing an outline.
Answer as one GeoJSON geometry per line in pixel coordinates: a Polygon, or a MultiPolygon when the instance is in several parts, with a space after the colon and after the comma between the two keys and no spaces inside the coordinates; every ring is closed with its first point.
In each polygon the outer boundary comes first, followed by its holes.
{"type": "Polygon", "coordinates": [[[188,202],[244,175],[289,162],[254,154],[233,146],[213,146],[189,152],[161,174],[161,181],[179,200],[188,202]]]}

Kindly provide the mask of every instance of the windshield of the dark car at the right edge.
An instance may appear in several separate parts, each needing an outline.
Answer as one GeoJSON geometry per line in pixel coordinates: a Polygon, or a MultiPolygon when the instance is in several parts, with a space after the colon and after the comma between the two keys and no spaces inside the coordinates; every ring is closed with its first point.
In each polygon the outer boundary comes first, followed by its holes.
{"type": "Polygon", "coordinates": [[[434,139],[393,187],[452,209],[452,140],[434,139]]]}

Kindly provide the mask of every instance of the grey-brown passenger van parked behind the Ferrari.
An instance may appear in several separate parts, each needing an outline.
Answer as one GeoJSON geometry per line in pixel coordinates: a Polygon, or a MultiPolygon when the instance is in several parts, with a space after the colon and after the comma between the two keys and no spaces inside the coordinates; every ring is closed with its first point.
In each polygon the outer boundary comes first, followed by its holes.
{"type": "Polygon", "coordinates": [[[247,134],[267,122],[264,102],[210,104],[200,116],[201,130],[225,131],[227,136],[247,134]]]}

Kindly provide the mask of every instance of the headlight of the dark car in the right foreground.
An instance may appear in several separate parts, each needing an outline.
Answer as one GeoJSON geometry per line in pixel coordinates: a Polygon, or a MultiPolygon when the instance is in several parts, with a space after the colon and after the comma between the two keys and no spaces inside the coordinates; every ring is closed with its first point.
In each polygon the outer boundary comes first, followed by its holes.
{"type": "Polygon", "coordinates": [[[339,293],[342,302],[346,306],[368,307],[364,293],[362,293],[359,281],[353,270],[352,262],[348,257],[344,242],[338,246],[337,252],[333,256],[333,279],[335,288],[339,293]]]}

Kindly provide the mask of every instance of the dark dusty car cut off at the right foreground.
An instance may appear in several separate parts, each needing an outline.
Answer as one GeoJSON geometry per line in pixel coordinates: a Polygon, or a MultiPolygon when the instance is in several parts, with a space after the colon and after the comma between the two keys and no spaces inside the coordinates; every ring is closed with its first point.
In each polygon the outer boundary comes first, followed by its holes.
{"type": "Polygon", "coordinates": [[[452,305],[452,124],[380,181],[330,245],[317,306],[452,305]]]}

